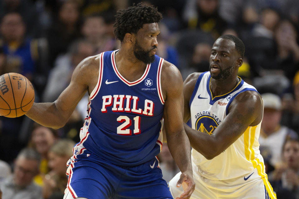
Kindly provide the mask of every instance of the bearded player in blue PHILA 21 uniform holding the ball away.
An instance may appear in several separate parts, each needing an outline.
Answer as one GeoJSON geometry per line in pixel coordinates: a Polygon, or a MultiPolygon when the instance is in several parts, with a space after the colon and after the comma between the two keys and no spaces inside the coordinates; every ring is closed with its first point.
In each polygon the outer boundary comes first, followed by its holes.
{"type": "Polygon", "coordinates": [[[159,168],[162,119],[168,147],[194,191],[191,151],[183,127],[183,80],[178,69],[155,55],[162,15],[137,4],[118,11],[120,49],[84,59],[53,103],[35,103],[27,116],[47,127],[64,126],[88,91],[81,141],[67,162],[64,199],[171,199],[159,168]]]}

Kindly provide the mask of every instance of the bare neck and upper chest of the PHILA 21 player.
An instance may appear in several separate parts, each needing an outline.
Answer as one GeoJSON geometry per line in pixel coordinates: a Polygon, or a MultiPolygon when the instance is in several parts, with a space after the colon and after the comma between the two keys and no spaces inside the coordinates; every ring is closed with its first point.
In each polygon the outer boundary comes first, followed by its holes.
{"type": "Polygon", "coordinates": [[[128,81],[138,80],[144,73],[148,64],[135,58],[129,50],[119,49],[115,54],[117,70],[128,81]]]}

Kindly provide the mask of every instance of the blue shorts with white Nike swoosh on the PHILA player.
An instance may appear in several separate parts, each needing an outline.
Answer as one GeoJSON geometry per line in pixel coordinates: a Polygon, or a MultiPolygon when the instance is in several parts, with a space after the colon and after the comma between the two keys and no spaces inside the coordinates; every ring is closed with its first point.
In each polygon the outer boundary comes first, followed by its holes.
{"type": "Polygon", "coordinates": [[[85,154],[70,167],[68,189],[74,198],[173,199],[156,158],[121,167],[85,154]]]}

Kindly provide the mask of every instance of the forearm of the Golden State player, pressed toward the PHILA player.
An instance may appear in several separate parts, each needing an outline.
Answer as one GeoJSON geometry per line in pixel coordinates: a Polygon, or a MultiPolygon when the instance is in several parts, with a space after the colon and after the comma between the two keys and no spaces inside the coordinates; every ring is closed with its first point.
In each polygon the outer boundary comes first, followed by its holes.
{"type": "Polygon", "coordinates": [[[184,123],[184,128],[191,147],[205,156],[206,159],[211,160],[223,151],[219,149],[220,143],[217,143],[214,136],[199,133],[198,131],[190,128],[186,123],[184,123]]]}

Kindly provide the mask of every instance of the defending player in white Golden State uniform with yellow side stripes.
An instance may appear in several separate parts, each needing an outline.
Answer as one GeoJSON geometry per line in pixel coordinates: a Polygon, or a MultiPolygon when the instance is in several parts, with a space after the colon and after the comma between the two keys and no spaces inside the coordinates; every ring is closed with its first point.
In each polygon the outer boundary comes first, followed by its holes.
{"type": "MultiPolygon", "coordinates": [[[[210,70],[193,73],[184,81],[185,131],[192,146],[195,191],[192,199],[276,198],[259,152],[263,99],[237,76],[244,44],[222,35],[213,44],[210,70]]],[[[177,174],[169,187],[173,196],[177,174]]]]}

